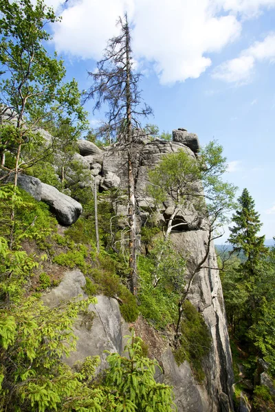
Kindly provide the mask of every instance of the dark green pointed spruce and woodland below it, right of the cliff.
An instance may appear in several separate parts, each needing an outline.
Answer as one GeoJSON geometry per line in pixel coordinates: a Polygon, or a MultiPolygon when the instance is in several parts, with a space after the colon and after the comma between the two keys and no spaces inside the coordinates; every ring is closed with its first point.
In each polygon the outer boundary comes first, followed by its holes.
{"type": "Polygon", "coordinates": [[[238,202],[230,242],[247,259],[223,275],[225,305],[232,332],[248,347],[250,369],[255,369],[260,356],[275,376],[274,251],[264,246],[264,236],[257,236],[261,222],[248,190],[243,190],[238,202]]]}

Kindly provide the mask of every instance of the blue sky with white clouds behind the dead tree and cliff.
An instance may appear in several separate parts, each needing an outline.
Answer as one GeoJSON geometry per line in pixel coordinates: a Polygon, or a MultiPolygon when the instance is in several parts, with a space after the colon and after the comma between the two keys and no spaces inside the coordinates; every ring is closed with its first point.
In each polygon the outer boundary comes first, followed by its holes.
{"type": "MultiPolygon", "coordinates": [[[[81,89],[91,85],[87,71],[128,12],[143,97],[155,113],[148,122],[160,130],[187,128],[202,145],[217,139],[228,158],[226,179],[239,193],[248,188],[262,233],[275,236],[275,0],[47,3],[62,16],[52,27],[52,48],[81,89]]],[[[91,124],[99,120],[91,113],[91,124]]]]}

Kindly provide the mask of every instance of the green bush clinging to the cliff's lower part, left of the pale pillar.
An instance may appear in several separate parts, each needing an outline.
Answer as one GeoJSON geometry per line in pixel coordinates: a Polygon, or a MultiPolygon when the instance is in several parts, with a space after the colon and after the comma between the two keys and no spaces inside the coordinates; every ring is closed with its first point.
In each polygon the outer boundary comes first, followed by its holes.
{"type": "Polygon", "coordinates": [[[181,321],[180,346],[175,350],[175,361],[180,364],[188,361],[199,382],[204,378],[202,368],[203,357],[210,350],[211,339],[203,317],[189,301],[184,302],[183,319],[181,321]]]}

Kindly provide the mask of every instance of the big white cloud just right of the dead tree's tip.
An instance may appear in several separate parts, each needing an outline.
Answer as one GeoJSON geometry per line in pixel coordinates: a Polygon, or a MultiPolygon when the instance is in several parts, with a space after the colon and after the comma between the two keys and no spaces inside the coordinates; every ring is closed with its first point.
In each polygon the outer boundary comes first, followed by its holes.
{"type": "Polygon", "coordinates": [[[162,84],[198,78],[211,65],[205,54],[219,52],[241,32],[234,16],[212,14],[208,0],[135,4],[133,49],[138,58],[154,63],[162,84]]]}

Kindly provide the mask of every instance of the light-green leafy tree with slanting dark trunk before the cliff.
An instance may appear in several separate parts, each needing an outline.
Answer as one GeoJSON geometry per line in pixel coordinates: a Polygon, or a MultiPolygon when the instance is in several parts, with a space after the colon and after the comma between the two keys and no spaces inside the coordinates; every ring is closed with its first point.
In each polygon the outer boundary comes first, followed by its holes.
{"type": "Polygon", "coordinates": [[[206,268],[212,240],[223,234],[223,225],[234,207],[236,187],[223,182],[221,176],[226,170],[226,159],[222,147],[210,142],[201,150],[199,159],[184,150],[165,155],[148,173],[148,192],[157,203],[173,201],[167,220],[164,239],[168,240],[174,229],[203,228],[207,232],[206,251],[200,260],[196,257],[188,262],[190,277],[181,290],[178,305],[176,336],[179,332],[184,301],[188,296],[195,275],[206,268]],[[190,220],[192,216],[192,220],[190,220]]]}

